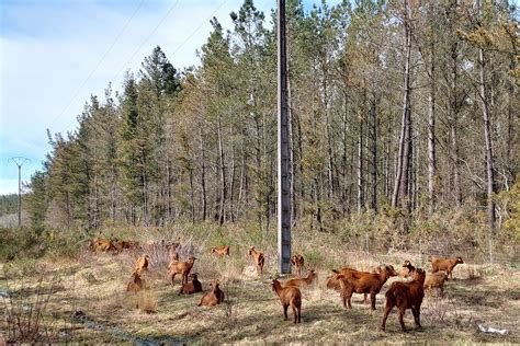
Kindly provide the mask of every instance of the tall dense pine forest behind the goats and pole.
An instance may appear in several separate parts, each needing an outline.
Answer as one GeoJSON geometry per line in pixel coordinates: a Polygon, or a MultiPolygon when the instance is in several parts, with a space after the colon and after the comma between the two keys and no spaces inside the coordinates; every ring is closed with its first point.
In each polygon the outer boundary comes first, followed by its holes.
{"type": "MultiPolygon", "coordinates": [[[[507,0],[287,1],[294,222],[481,214],[519,173],[518,13],[507,0]]],[[[158,46],[53,134],[24,203],[35,227],[252,222],[276,212],[275,13],[217,19],[201,65],[158,46]]]]}

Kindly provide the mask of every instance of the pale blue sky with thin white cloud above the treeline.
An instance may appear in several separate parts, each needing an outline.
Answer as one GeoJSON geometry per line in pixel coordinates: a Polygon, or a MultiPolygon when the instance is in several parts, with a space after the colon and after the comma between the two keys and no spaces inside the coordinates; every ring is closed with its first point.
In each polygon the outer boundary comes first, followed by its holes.
{"type": "MultiPolygon", "coordinates": [[[[312,0],[304,1],[310,9],[312,0]]],[[[338,1],[331,0],[330,3],[338,1]]],[[[91,94],[126,70],[137,71],[159,45],[178,69],[197,65],[196,49],[216,16],[230,28],[229,12],[242,0],[0,0],[0,195],[18,192],[11,157],[31,160],[29,181],[50,150],[46,129],[74,131],[91,94]]],[[[275,0],[256,0],[268,14],[275,0]]]]}

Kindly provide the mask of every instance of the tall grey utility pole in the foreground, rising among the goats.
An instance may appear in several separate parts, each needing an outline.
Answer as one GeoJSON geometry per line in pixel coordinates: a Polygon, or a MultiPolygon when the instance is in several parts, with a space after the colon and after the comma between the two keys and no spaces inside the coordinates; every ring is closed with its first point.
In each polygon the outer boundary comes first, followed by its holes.
{"type": "Polygon", "coordinates": [[[278,251],[280,273],[291,273],[291,158],[289,152],[285,0],[278,0],[278,251]]]}

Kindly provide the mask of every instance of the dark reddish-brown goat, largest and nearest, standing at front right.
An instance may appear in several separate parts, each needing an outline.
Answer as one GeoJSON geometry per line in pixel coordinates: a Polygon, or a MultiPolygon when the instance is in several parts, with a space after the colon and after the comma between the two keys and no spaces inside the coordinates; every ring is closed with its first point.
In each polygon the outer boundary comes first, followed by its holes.
{"type": "Polygon", "coordinates": [[[408,282],[394,282],[391,288],[386,291],[386,307],[383,314],[383,323],[381,328],[384,331],[386,325],[386,319],[394,307],[399,309],[399,323],[403,332],[406,332],[405,316],[406,309],[411,309],[416,325],[420,328],[420,304],[425,298],[423,285],[425,285],[425,270],[417,268],[411,274],[411,281],[408,282]]]}

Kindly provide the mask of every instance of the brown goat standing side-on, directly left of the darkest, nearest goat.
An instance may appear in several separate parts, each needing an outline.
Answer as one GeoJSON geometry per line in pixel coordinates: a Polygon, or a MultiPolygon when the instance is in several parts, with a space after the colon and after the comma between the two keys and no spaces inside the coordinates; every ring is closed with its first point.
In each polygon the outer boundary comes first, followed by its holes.
{"type": "Polygon", "coordinates": [[[391,276],[396,276],[392,265],[382,267],[378,273],[351,273],[351,276],[340,275],[341,299],[343,307],[352,309],[350,299],[352,293],[370,293],[371,309],[375,310],[375,296],[391,276]]]}

